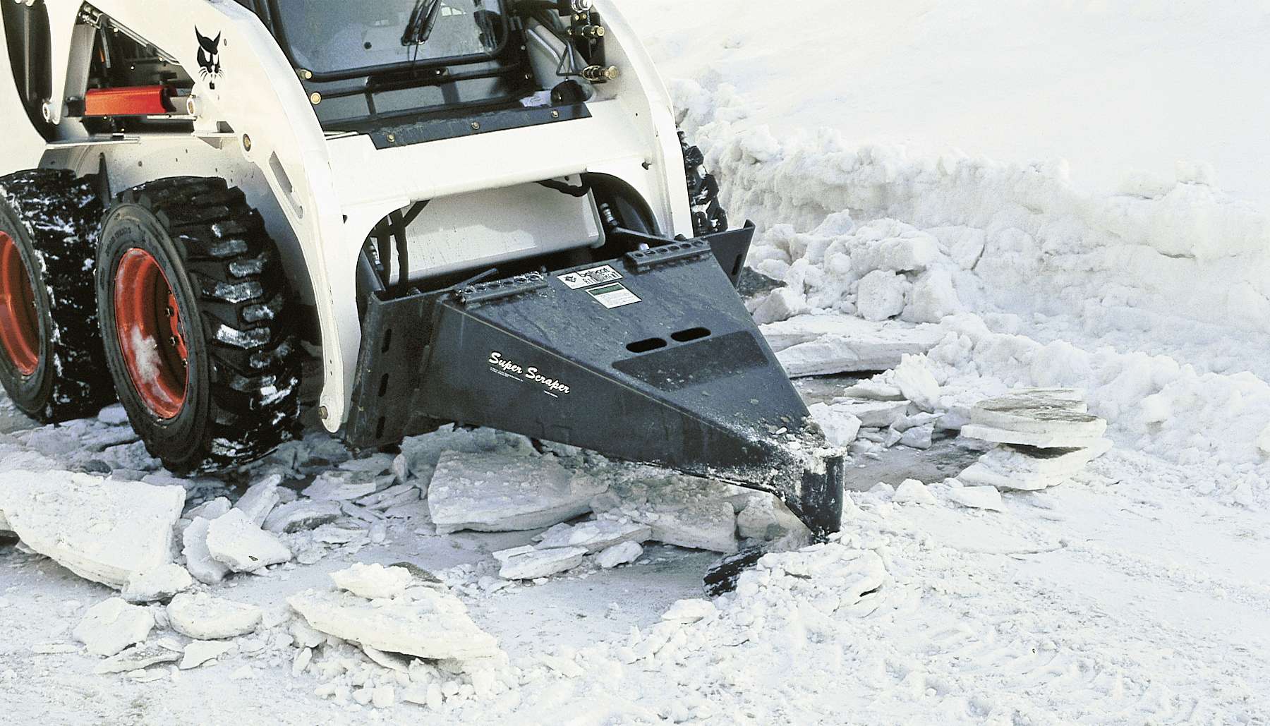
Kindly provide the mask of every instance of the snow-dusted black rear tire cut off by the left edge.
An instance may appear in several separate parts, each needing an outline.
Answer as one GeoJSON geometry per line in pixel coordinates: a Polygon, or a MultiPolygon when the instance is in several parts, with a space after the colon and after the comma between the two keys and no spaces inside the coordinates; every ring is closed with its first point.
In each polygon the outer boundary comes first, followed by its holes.
{"type": "MultiPolygon", "coordinates": [[[[42,424],[93,416],[114,400],[93,291],[103,211],[91,176],[28,169],[0,178],[0,232],[29,283],[29,293],[20,292],[34,308],[29,352],[38,355],[33,367],[19,366],[0,345],[0,382],[14,405],[42,424]]],[[[10,284],[0,275],[4,300],[19,292],[10,284]]]]}

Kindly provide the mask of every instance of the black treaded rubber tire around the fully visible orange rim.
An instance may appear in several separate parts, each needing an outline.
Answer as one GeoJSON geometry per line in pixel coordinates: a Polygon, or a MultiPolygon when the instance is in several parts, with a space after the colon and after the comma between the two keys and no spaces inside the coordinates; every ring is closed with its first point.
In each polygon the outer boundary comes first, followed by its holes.
{"type": "MultiPolygon", "coordinates": [[[[187,176],[124,192],[102,225],[97,270],[116,391],[146,449],[169,471],[231,468],[293,438],[300,350],[290,291],[276,245],[240,189],[224,179],[187,176]],[[141,250],[163,272],[178,311],[185,377],[174,412],[156,411],[154,395],[138,392],[130,373],[116,305],[116,278],[130,250],[141,250]]],[[[126,286],[121,289],[128,294],[126,286]]],[[[126,311],[123,320],[130,320],[126,311]]],[[[175,345],[178,338],[171,340],[175,345]]],[[[175,366],[163,369],[175,374],[175,366]]]]}

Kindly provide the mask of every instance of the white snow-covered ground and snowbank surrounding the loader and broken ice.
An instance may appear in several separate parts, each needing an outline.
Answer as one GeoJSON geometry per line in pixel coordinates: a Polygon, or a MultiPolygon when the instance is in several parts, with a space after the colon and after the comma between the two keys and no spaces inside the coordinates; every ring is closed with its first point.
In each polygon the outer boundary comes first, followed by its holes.
{"type": "MultiPolygon", "coordinates": [[[[912,363],[939,385],[937,426],[1013,387],[1080,388],[1114,448],[988,509],[966,506],[942,473],[899,491],[859,481],[839,537],[765,556],[714,600],[700,575],[715,556],[665,544],[632,565],[587,555],[508,584],[493,553],[537,531],[433,536],[394,519],[326,531],[345,542],[286,536],[292,562],[198,586],[262,608],[262,621],[190,669],[93,674],[100,659],[72,631],[114,590],[5,539],[5,716],[1270,722],[1264,4],[622,8],[733,221],[758,223],[749,263],[786,282],[780,308],[803,311],[792,324],[890,314],[937,326],[912,363]],[[316,645],[288,610],[288,598],[329,589],[330,572],[401,561],[434,572],[508,660],[401,671],[347,642],[316,645]]],[[[804,390],[832,400],[834,386],[804,390]]],[[[154,468],[109,412],[60,429],[8,416],[4,428],[4,471],[154,468]]],[[[411,446],[527,456],[489,433],[443,438],[411,446]]],[[[869,440],[852,451],[862,476],[885,454],[869,440]]],[[[273,465],[321,478],[339,471],[335,452],[315,438],[273,465]]],[[[419,457],[419,472],[437,463],[419,457]]],[[[187,486],[199,499],[241,491],[187,486]]],[[[189,640],[164,627],[168,610],[146,610],[160,621],[149,642],[189,640]]]]}

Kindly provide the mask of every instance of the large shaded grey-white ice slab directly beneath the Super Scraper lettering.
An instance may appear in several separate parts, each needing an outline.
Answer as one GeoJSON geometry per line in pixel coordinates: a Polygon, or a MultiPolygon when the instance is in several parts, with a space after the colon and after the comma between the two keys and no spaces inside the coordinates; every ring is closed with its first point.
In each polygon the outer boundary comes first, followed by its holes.
{"type": "Polygon", "coordinates": [[[555,457],[450,452],[437,461],[428,510],[438,534],[535,529],[589,512],[607,487],[555,457]]]}

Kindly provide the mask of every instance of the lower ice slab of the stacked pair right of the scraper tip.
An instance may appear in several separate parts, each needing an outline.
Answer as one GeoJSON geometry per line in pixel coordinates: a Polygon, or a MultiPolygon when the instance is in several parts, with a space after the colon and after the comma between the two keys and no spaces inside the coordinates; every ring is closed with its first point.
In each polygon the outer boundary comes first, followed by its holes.
{"type": "Polygon", "coordinates": [[[1034,448],[1003,444],[987,452],[958,478],[999,489],[1038,490],[1080,473],[1091,461],[1111,451],[1111,439],[1085,448],[1034,448]]]}

